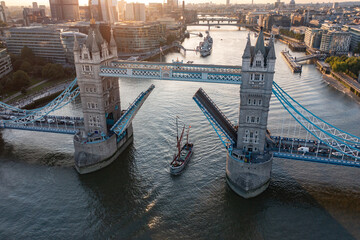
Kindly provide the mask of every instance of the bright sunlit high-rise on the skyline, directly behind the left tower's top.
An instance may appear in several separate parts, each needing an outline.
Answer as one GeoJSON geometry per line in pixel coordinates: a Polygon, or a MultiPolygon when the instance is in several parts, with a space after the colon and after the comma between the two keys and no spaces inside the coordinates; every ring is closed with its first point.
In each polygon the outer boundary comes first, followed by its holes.
{"type": "Polygon", "coordinates": [[[116,0],[89,0],[92,17],[96,21],[113,24],[118,21],[116,0]]]}

